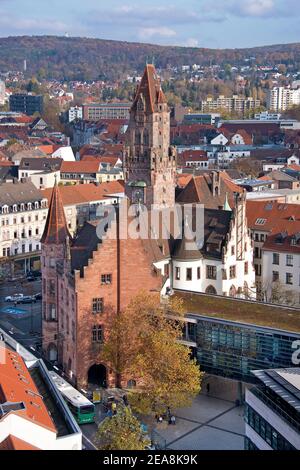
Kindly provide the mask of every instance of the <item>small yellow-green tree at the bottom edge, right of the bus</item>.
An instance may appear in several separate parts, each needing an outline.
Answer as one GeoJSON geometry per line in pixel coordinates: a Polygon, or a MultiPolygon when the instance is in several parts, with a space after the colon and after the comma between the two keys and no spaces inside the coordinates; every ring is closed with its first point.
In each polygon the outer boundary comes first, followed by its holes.
{"type": "Polygon", "coordinates": [[[144,450],[150,444],[129,407],[100,424],[95,442],[99,450],[144,450]]]}

